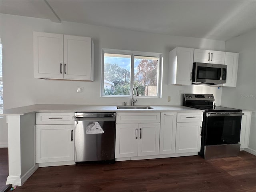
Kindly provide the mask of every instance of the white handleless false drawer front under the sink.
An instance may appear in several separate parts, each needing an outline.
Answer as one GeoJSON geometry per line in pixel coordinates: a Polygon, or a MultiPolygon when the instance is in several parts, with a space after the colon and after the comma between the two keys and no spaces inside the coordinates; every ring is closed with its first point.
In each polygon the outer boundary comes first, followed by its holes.
{"type": "Polygon", "coordinates": [[[135,124],[135,123],[159,123],[160,113],[135,112],[135,113],[117,113],[117,124],[135,124]]]}

